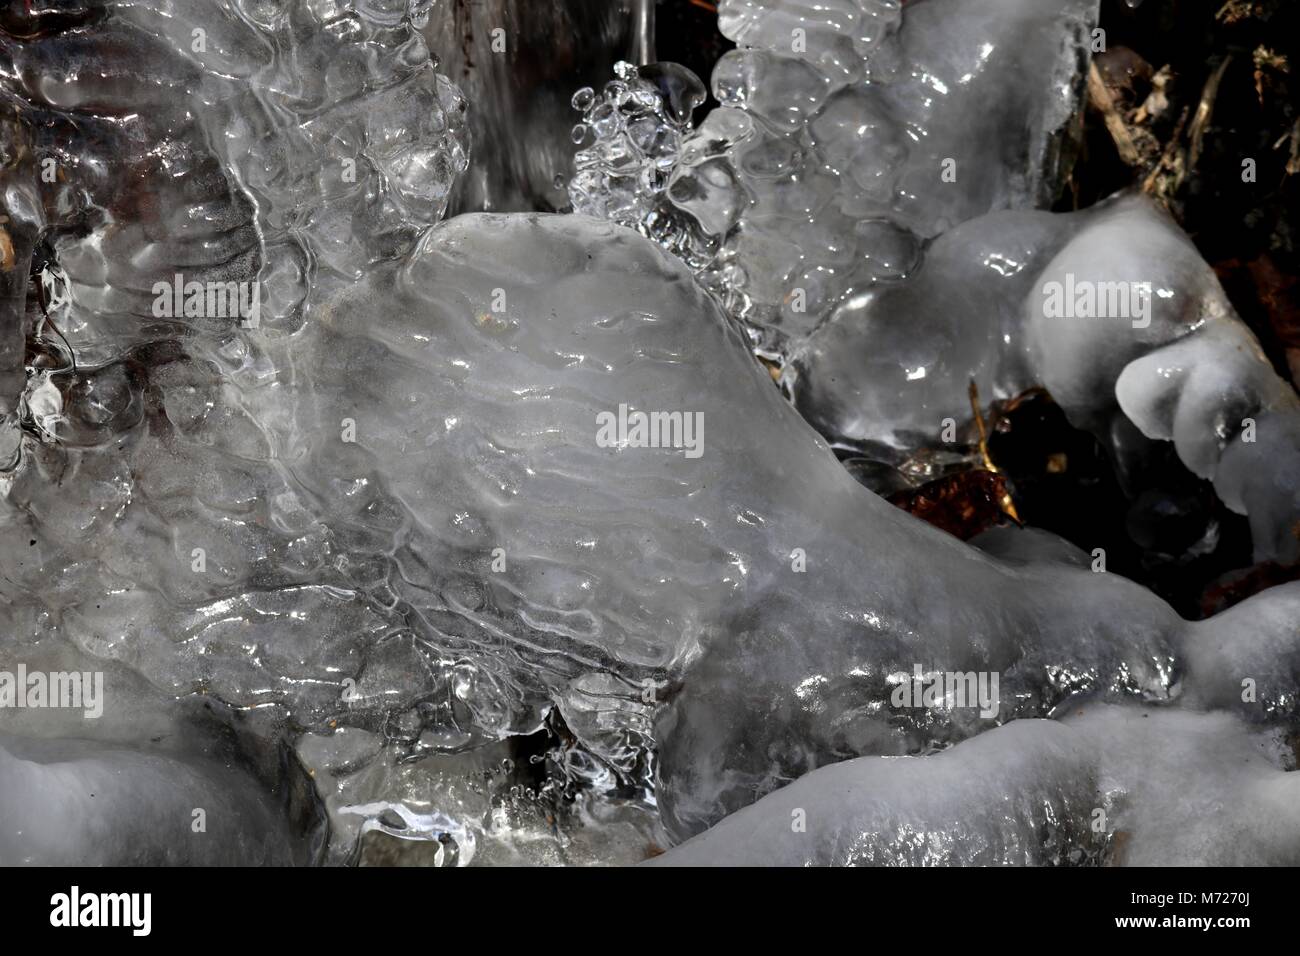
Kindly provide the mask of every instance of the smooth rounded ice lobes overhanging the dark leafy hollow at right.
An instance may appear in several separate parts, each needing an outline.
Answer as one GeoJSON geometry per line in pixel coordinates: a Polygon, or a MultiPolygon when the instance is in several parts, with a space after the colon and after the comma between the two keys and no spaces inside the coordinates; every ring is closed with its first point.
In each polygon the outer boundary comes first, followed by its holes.
{"type": "Polygon", "coordinates": [[[823,434],[890,463],[942,447],[944,420],[968,416],[971,381],[985,399],[1045,386],[1121,462],[1141,453],[1119,440],[1124,419],[1171,440],[1249,516],[1257,559],[1300,557],[1300,401],[1144,196],[949,230],[911,280],[837,307],[785,381],[823,434]],[[1063,312],[1049,308],[1053,287],[1070,298],[1063,312]],[[1086,293],[1096,302],[1080,310],[1086,293]]]}

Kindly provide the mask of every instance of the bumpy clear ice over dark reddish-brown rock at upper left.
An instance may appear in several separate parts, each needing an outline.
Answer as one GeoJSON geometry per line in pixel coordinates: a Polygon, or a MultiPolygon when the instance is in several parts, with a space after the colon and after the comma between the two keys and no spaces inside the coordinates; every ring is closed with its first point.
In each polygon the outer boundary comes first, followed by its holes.
{"type": "Polygon", "coordinates": [[[20,263],[48,243],[81,365],[228,333],[159,315],[177,273],[259,281],[261,324],[292,332],[313,281],[355,278],[442,216],[464,100],[407,7],[112,3],[0,36],[6,228],[20,263]]]}

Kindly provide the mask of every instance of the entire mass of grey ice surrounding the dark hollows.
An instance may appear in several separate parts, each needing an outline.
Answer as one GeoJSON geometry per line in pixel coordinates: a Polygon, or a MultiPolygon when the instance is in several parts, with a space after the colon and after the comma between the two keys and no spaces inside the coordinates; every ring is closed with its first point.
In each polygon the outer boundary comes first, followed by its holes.
{"type": "MultiPolygon", "coordinates": [[[[465,103],[426,3],[4,21],[3,663],[103,670],[108,715],[0,709],[0,858],[633,862],[712,826],[666,862],[751,858],[746,827],[785,829],[763,862],[1294,862],[1296,585],[1190,623],[1032,531],[966,545],[862,488],[753,359],[816,388],[835,332],[898,363],[927,343],[872,325],[887,295],[939,337],[1005,330],[970,352],[993,392],[1118,407],[1282,533],[1295,459],[1231,424],[1277,434],[1295,398],[1186,241],[1131,200],[979,219],[1050,191],[1093,5],[971,0],[956,46],[941,8],[724,3],[748,48],[696,130],[670,66],[580,98],[571,195],[627,186],[593,209],[625,225],[438,222],[465,103]],[[944,159],[982,190],[910,185],[944,159]],[[1034,284],[1126,278],[1117,233],[1165,269],[1149,325],[1046,328],[1034,284]],[[190,282],[255,284],[256,316],[190,282]],[[958,295],[996,321],[935,308],[958,295]],[[897,704],[967,674],[976,706],[897,704]],[[1174,788],[1238,800],[1248,839],[1174,788]]],[[[918,367],[871,427],[926,432],[966,388],[918,367]]],[[[848,388],[818,407],[858,414],[848,388]]]]}

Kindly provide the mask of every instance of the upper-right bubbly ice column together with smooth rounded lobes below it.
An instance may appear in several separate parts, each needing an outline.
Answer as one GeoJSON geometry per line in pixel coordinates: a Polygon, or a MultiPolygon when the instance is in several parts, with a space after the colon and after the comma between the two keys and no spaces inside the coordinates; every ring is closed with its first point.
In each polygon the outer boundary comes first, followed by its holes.
{"type": "Polygon", "coordinates": [[[905,463],[965,420],[971,381],[1041,385],[1126,464],[1141,444],[1117,411],[1173,440],[1249,515],[1256,558],[1294,562],[1296,395],[1209,267],[1138,198],[1027,212],[1069,164],[1096,18],[1096,0],[724,0],[722,107],[655,157],[667,185],[576,178],[571,198],[696,269],[835,445],[905,463]],[[1145,285],[1154,324],[1076,315],[1074,280],[1145,285]],[[1052,282],[1070,303],[1049,321],[1052,282]]]}

